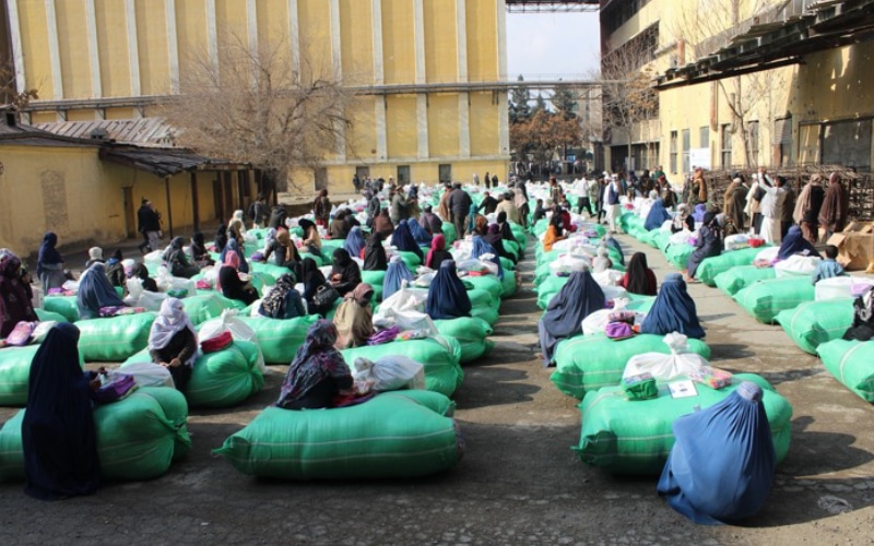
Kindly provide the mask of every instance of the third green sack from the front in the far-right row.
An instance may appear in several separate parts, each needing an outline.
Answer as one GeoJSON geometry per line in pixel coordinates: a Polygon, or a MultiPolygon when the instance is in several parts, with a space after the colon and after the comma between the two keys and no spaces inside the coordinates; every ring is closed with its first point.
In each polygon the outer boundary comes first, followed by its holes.
{"type": "Polygon", "coordinates": [[[734,295],[746,312],[766,324],[773,323],[780,311],[813,301],[814,286],[810,277],[757,281],[734,295]]]}

